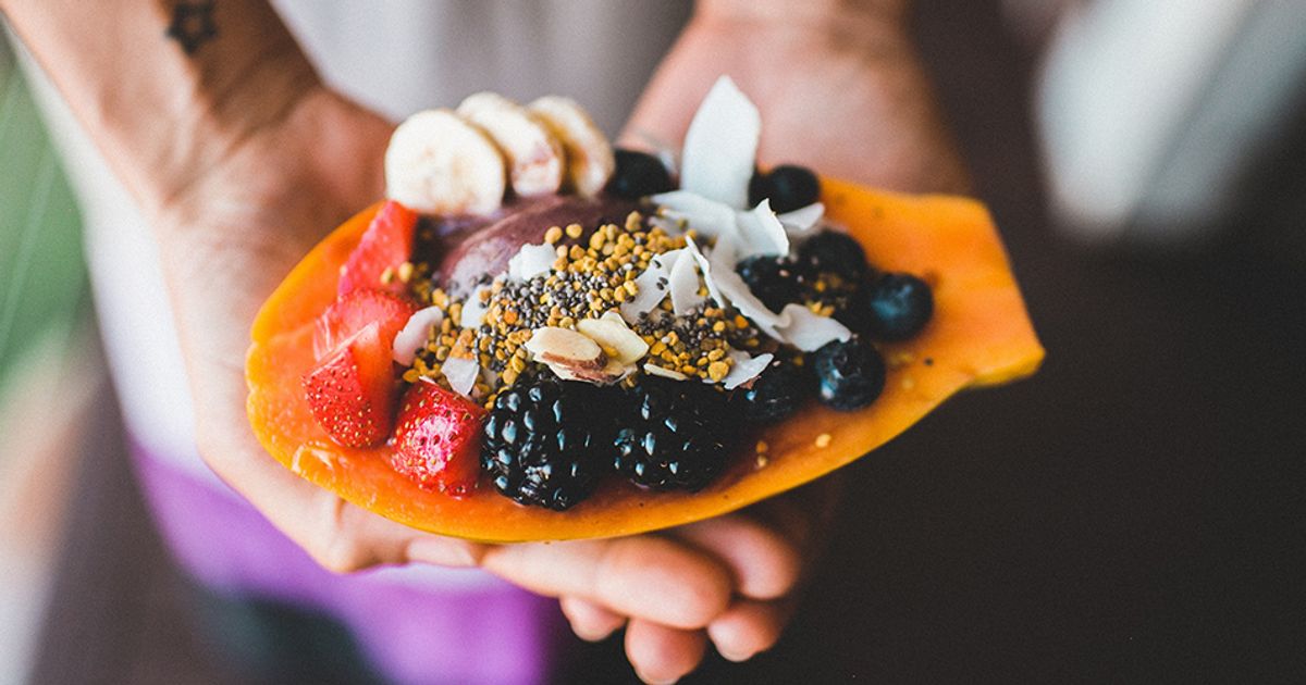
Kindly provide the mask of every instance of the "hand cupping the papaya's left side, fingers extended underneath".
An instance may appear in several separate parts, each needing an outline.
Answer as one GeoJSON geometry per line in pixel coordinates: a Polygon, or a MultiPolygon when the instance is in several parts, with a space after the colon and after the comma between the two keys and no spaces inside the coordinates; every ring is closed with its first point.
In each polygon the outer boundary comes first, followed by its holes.
{"type": "Polygon", "coordinates": [[[390,124],[324,89],[231,149],[154,214],[209,466],[328,569],[409,562],[482,566],[560,598],[576,633],[627,626],[650,681],[679,677],[710,639],[731,659],[769,647],[819,544],[833,481],[750,510],[607,540],[482,545],[423,534],[293,475],[246,418],[248,326],[282,275],[383,192],[390,124]]]}

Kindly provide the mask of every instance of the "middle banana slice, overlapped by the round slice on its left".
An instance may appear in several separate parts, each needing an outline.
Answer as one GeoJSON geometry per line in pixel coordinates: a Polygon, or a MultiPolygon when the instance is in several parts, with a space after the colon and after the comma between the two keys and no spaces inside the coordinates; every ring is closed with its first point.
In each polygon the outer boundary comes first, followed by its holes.
{"type": "Polygon", "coordinates": [[[496,93],[477,93],[462,100],[458,116],[485,129],[499,146],[517,194],[552,194],[562,187],[563,147],[525,107],[496,93]]]}

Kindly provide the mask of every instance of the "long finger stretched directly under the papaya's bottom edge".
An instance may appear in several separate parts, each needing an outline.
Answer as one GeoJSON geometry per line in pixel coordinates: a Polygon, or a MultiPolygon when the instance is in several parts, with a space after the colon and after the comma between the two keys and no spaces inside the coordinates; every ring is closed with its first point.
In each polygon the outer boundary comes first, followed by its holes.
{"type": "Polygon", "coordinates": [[[731,577],[722,564],[654,535],[486,551],[482,565],[549,596],[579,596],[632,618],[703,628],[730,604],[731,577]]]}

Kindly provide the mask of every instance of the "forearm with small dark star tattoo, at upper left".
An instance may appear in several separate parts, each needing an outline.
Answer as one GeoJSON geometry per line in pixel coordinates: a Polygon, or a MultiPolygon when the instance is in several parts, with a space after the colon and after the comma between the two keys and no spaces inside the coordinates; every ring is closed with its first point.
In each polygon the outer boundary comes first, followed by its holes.
{"type": "Polygon", "coordinates": [[[0,10],[148,213],[319,84],[265,0],[0,0],[0,10]]]}

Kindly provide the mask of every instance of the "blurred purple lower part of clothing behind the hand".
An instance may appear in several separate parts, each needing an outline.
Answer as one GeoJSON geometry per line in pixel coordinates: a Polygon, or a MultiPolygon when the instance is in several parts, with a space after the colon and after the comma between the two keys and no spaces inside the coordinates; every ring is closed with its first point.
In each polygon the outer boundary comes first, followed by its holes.
{"type": "Polygon", "coordinates": [[[133,454],[163,538],[178,561],[214,590],[334,616],[400,684],[547,680],[565,634],[552,600],[498,579],[439,587],[439,579],[396,579],[394,570],[329,573],[234,493],[140,446],[133,454]]]}

